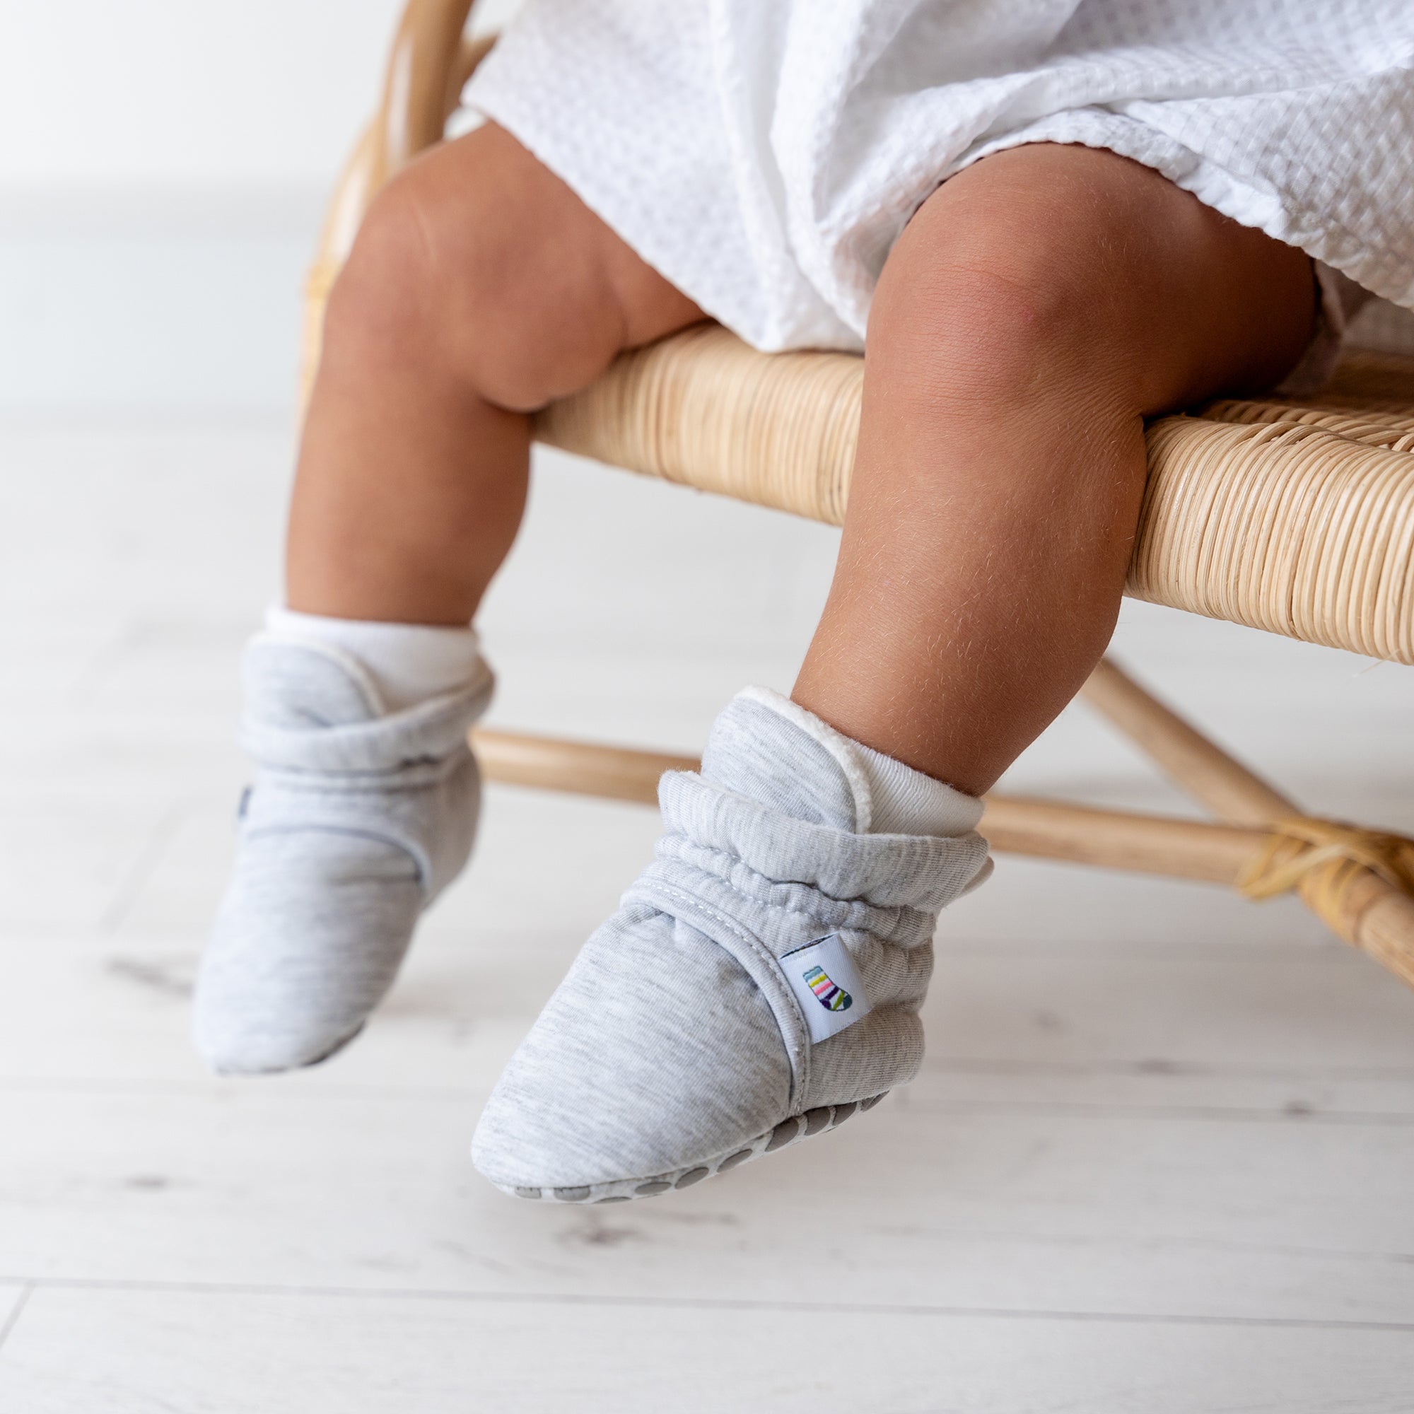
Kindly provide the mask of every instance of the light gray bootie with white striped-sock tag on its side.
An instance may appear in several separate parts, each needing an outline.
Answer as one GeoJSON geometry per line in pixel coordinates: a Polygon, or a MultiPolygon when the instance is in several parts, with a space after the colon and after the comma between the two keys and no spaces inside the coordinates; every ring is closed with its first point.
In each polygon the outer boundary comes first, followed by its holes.
{"type": "Polygon", "coordinates": [[[560,1202],[684,1188],[912,1079],[937,912],[987,860],[981,803],[928,782],[956,797],[952,837],[867,833],[863,752],[748,689],[701,775],[663,776],[655,863],[481,1117],[492,1184],[560,1202]]]}

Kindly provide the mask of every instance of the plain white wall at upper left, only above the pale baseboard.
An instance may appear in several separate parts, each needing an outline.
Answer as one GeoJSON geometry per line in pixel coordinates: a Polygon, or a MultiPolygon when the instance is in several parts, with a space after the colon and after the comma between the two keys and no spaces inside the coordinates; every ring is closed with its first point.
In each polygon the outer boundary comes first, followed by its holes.
{"type": "Polygon", "coordinates": [[[396,14],[397,0],[6,0],[0,184],[324,182],[396,14]]]}

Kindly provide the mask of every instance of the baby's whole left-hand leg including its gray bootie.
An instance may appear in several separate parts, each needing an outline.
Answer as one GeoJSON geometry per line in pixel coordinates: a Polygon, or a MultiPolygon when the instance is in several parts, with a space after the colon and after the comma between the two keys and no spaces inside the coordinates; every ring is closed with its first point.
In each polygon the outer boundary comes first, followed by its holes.
{"type": "Polygon", "coordinates": [[[325,322],[288,605],[246,653],[259,771],[197,984],[216,1069],[320,1060],[392,984],[472,843],[469,621],[520,522],[527,413],[696,318],[501,129],[373,204],[325,322]]]}

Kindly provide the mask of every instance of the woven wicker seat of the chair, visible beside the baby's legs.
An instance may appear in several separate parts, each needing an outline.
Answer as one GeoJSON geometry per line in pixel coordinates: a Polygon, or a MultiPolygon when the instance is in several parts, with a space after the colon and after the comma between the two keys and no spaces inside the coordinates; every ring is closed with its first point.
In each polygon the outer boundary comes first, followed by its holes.
{"type": "MultiPolygon", "coordinates": [[[[700,327],[621,358],[537,436],[840,525],[863,359],[758,354],[700,327]]],[[[1414,663],[1414,365],[1357,356],[1318,400],[1225,400],[1147,434],[1128,592],[1414,663]]]]}

